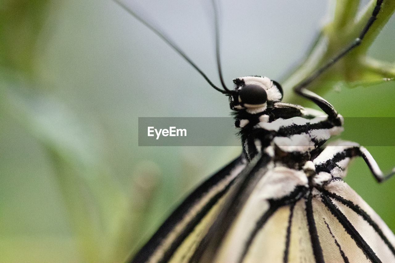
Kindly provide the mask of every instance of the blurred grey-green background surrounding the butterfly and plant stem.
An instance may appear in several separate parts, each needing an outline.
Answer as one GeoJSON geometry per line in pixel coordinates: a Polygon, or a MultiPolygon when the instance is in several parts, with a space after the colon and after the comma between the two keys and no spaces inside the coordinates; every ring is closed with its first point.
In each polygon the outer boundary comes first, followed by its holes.
{"type": "MultiPolygon", "coordinates": [[[[139,5],[218,83],[209,1],[139,5]]],[[[280,80],[333,5],[250,0],[223,1],[220,9],[230,86],[245,75],[280,80]]],[[[394,17],[369,54],[394,62],[393,39],[394,17]]],[[[343,116],[395,117],[394,82],[327,85],[335,88],[321,94],[343,116]]],[[[122,261],[241,151],[137,146],[138,117],[229,116],[229,106],[112,1],[2,0],[0,92],[1,262],[122,261]]],[[[346,123],[344,138],[355,140],[358,129],[346,123]]],[[[381,129],[371,136],[393,136],[393,127],[381,129]]],[[[383,171],[395,165],[393,145],[367,148],[383,171]]],[[[377,184],[359,159],[346,181],[394,231],[395,179],[377,184]]]]}

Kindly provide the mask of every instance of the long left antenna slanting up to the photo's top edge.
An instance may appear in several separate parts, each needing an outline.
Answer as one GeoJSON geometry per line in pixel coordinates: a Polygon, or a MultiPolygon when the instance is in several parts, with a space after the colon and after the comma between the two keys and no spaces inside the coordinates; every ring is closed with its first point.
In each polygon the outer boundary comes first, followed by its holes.
{"type": "MultiPolygon", "coordinates": [[[[223,94],[229,94],[229,90],[225,88],[225,90],[222,90],[218,88],[217,86],[214,85],[214,83],[211,82],[211,80],[207,77],[207,75],[194,63],[192,60],[184,53],[184,51],[181,50],[166,34],[161,32],[156,26],[153,24],[149,23],[147,19],[143,19],[143,17],[137,15],[131,8],[126,6],[123,2],[119,0],[114,0],[117,4],[119,4],[123,9],[125,9],[130,15],[134,16],[135,19],[143,23],[145,26],[147,26],[152,32],[154,32],[158,37],[160,37],[163,41],[165,41],[172,49],[174,49],[178,54],[180,54],[186,62],[188,62],[192,67],[197,70],[200,75],[203,76],[203,78],[209,83],[210,86],[212,86],[214,89],[218,90],[219,92],[223,94]]],[[[222,81],[222,75],[221,75],[221,81],[222,81]]]]}

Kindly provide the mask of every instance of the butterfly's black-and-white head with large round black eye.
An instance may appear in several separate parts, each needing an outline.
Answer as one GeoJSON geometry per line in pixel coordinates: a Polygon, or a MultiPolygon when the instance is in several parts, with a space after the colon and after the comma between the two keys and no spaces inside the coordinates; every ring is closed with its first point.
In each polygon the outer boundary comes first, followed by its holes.
{"type": "Polygon", "coordinates": [[[241,77],[233,83],[235,89],[230,95],[230,108],[234,111],[245,109],[251,114],[260,113],[282,99],[280,84],[268,77],[241,77]]]}

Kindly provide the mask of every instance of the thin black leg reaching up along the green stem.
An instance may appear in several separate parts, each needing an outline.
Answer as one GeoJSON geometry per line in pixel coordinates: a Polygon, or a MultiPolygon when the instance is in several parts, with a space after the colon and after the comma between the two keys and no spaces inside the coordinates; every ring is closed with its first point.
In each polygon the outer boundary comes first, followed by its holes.
{"type": "Polygon", "coordinates": [[[312,83],[319,75],[321,75],[325,70],[327,70],[330,66],[335,64],[340,58],[342,58],[344,55],[346,55],[350,50],[354,49],[355,47],[359,46],[361,44],[362,39],[365,37],[365,34],[368,32],[369,28],[372,26],[374,20],[376,20],[376,17],[378,15],[378,12],[381,9],[381,4],[383,0],[377,0],[376,6],[373,9],[372,15],[369,18],[368,22],[366,23],[365,27],[363,28],[361,34],[359,34],[359,37],[355,38],[354,41],[346,47],[343,51],[341,51],[337,56],[329,60],[324,66],[319,68],[317,71],[312,73],[309,77],[305,78],[303,81],[301,81],[299,84],[297,84],[293,90],[299,94],[300,96],[313,101],[320,107],[328,116],[329,118],[337,118],[338,113],[335,110],[335,108],[326,100],[315,94],[314,92],[311,92],[310,90],[307,90],[306,87],[312,83]]]}

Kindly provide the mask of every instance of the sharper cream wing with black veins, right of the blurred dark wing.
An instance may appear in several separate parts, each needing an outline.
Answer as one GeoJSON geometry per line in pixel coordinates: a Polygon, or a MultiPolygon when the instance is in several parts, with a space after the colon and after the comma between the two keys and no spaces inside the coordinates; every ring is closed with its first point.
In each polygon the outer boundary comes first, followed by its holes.
{"type": "Polygon", "coordinates": [[[246,201],[228,199],[235,210],[218,216],[213,242],[188,262],[395,262],[395,236],[340,178],[311,187],[302,171],[255,170],[254,189],[237,195],[246,201]]]}

